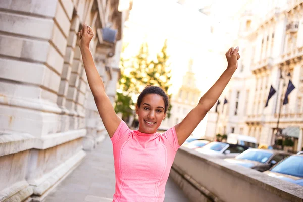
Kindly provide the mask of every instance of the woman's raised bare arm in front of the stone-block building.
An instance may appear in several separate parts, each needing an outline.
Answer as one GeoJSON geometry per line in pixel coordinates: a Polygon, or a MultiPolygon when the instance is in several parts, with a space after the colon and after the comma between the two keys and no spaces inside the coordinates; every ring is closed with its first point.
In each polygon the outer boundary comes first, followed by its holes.
{"type": "Polygon", "coordinates": [[[105,93],[104,84],[89,50],[89,43],[93,37],[93,31],[84,23],[83,29],[79,31],[78,36],[80,38],[79,46],[90,90],[103,124],[110,137],[112,137],[118,128],[121,119],[116,115],[110,99],[105,93]]]}

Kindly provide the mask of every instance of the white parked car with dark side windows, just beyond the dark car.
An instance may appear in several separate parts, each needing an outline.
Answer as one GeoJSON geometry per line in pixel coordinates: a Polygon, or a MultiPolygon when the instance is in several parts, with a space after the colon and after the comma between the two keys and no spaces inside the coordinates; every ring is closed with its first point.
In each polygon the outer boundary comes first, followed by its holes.
{"type": "Polygon", "coordinates": [[[247,149],[247,146],[241,146],[237,144],[211,142],[201,148],[196,148],[195,150],[202,154],[225,159],[233,158],[247,149]]]}

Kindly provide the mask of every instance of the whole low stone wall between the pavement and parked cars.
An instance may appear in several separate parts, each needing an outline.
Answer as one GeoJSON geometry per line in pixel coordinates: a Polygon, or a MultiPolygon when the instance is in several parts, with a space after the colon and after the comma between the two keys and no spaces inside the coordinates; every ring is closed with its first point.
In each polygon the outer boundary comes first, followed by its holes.
{"type": "Polygon", "coordinates": [[[170,176],[191,201],[303,201],[302,187],[180,147],[170,176]]]}

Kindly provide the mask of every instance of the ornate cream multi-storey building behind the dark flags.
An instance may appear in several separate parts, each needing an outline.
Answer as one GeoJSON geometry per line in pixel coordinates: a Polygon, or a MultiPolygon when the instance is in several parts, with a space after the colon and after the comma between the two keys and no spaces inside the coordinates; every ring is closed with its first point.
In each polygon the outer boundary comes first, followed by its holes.
{"type": "Polygon", "coordinates": [[[303,1],[247,1],[241,12],[239,67],[220,97],[218,112],[209,113],[207,131],[254,136],[261,144],[291,138],[292,151],[303,139],[303,1]],[[289,81],[295,89],[283,105],[289,81]],[[265,107],[271,86],[276,93],[265,107]],[[226,98],[228,103],[224,105],[226,98]]]}

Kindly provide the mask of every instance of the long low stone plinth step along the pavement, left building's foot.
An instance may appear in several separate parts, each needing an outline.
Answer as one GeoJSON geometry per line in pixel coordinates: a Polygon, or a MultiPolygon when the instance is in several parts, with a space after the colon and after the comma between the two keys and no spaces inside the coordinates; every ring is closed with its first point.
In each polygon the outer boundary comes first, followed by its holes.
{"type": "Polygon", "coordinates": [[[81,150],[48,174],[29,182],[30,186],[33,188],[33,193],[37,195],[37,197],[35,197],[36,200],[54,186],[61,178],[68,175],[85,156],[86,153],[81,150]]]}

